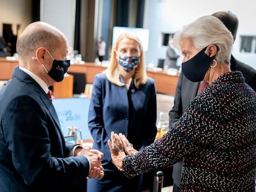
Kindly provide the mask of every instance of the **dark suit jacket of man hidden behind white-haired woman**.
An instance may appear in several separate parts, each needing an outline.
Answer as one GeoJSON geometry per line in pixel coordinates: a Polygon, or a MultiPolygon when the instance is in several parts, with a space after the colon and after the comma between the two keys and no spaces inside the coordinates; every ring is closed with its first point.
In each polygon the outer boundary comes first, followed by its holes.
{"type": "MultiPolygon", "coordinates": [[[[250,85],[254,91],[256,90],[256,70],[231,56],[231,70],[239,70],[245,78],[245,82],[250,85]]],[[[174,97],[174,106],[169,111],[169,126],[173,126],[181,118],[183,112],[186,111],[190,101],[197,95],[199,82],[188,80],[181,72],[177,82],[176,93],[174,97]]],[[[173,182],[179,186],[181,183],[181,167],[182,162],[177,162],[173,166],[173,182]]]]}

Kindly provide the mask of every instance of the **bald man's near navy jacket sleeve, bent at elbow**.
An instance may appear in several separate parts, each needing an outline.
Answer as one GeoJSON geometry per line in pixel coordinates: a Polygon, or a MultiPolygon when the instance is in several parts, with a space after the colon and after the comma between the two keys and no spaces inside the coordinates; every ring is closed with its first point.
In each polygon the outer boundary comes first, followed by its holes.
{"type": "Polygon", "coordinates": [[[2,115],[2,127],[13,169],[28,186],[61,187],[88,176],[86,157],[64,157],[64,144],[45,104],[35,96],[12,99],[2,115]]]}

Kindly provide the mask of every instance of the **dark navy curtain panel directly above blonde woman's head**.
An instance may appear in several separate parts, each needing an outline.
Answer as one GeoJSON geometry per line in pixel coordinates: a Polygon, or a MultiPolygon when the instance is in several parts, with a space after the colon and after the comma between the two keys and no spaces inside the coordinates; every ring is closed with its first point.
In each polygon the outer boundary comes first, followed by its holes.
{"type": "Polygon", "coordinates": [[[116,26],[128,27],[129,0],[117,0],[116,2],[116,26]]]}

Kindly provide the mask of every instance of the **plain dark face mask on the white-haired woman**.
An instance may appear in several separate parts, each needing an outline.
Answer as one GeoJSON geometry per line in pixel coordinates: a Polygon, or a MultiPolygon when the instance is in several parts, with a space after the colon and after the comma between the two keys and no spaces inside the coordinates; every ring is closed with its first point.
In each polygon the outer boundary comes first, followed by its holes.
{"type": "Polygon", "coordinates": [[[202,81],[205,77],[205,73],[209,69],[211,62],[213,62],[213,57],[208,57],[205,54],[206,48],[198,52],[194,57],[182,63],[182,73],[193,82],[202,81]]]}

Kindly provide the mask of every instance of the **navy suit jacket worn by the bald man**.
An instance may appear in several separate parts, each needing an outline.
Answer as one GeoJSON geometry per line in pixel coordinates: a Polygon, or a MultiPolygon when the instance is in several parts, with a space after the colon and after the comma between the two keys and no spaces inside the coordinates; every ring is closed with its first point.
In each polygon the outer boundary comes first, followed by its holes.
{"type": "Polygon", "coordinates": [[[0,120],[0,191],[70,191],[85,182],[87,157],[68,157],[74,144],[65,143],[53,104],[19,67],[0,92],[0,120]]]}

